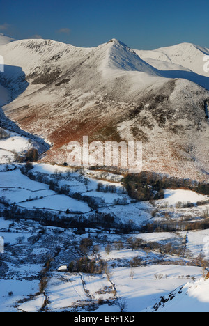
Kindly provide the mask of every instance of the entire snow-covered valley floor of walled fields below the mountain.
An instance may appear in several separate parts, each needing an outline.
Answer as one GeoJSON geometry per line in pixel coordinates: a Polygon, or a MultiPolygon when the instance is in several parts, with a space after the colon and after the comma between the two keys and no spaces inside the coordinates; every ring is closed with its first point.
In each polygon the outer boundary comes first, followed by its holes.
{"type": "MultiPolygon", "coordinates": [[[[77,228],[59,226],[57,221],[55,226],[42,223],[48,215],[43,215],[42,222],[35,222],[29,213],[35,208],[39,208],[38,214],[54,212],[60,222],[63,217],[88,221],[98,215],[111,215],[121,226],[163,225],[168,223],[168,214],[171,221],[189,215],[197,221],[203,219],[207,196],[167,189],[164,199],[155,203],[134,202],[113,174],[111,180],[104,180],[102,172],[80,173],[63,166],[34,164],[32,180],[21,173],[21,167],[8,164],[0,170],[0,209],[6,203],[16,203],[17,212],[28,209],[24,219],[21,215],[18,219],[0,217],[0,237],[5,246],[0,261],[0,311],[120,312],[122,305],[128,312],[153,311],[161,297],[167,298],[183,286],[185,295],[198,302],[196,309],[207,309],[208,297],[198,280],[206,272],[203,260],[209,261],[208,230],[117,234],[114,228],[108,231],[95,227],[79,233],[77,228]],[[9,168],[11,171],[6,171],[9,168]],[[49,189],[50,182],[57,188],[49,189]],[[59,189],[70,192],[60,194],[59,189]],[[90,207],[88,199],[99,203],[98,208],[90,207]],[[197,201],[204,204],[197,206],[197,201]],[[193,205],[179,207],[179,202],[193,205]],[[82,247],[85,239],[92,241],[86,249],[82,247]],[[70,264],[84,264],[84,257],[93,264],[91,269],[101,264],[100,272],[85,272],[82,267],[79,272],[68,270],[70,264]],[[59,271],[61,266],[67,271],[59,271]]],[[[176,292],[176,298],[178,295],[176,292]]],[[[186,302],[180,308],[175,300],[164,310],[188,308],[186,302]]]]}

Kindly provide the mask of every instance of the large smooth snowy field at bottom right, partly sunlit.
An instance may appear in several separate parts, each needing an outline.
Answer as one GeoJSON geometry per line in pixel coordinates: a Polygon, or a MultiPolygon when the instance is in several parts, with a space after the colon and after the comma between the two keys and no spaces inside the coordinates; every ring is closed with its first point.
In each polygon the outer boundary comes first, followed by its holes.
{"type": "Polygon", "coordinates": [[[118,296],[127,300],[127,311],[139,312],[146,309],[156,298],[169,293],[187,282],[182,276],[201,277],[199,267],[181,266],[148,266],[134,269],[134,277],[130,279],[130,269],[117,269],[114,272],[113,281],[118,290],[118,296]],[[162,275],[162,279],[156,279],[162,275]]]}

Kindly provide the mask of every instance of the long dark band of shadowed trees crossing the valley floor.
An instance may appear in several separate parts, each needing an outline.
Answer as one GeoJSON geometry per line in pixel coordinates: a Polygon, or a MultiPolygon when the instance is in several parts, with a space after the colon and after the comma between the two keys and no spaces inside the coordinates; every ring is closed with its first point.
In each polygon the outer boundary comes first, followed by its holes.
{"type": "MultiPolygon", "coordinates": [[[[0,217],[6,219],[33,219],[40,221],[44,225],[53,225],[64,228],[77,228],[78,233],[85,233],[85,228],[100,228],[102,227],[106,231],[115,231],[117,234],[128,234],[132,231],[140,233],[152,233],[152,232],[171,232],[171,231],[189,231],[189,230],[204,230],[209,228],[208,210],[203,211],[202,220],[196,222],[189,222],[189,220],[167,220],[158,221],[154,223],[146,223],[137,227],[132,220],[127,224],[118,224],[115,221],[114,216],[108,213],[95,211],[89,215],[86,219],[85,215],[75,214],[74,216],[62,215],[62,212],[50,212],[49,210],[42,210],[39,208],[24,209],[18,208],[17,205],[10,205],[6,197],[0,198],[0,203],[4,205],[4,210],[0,211],[0,217]]],[[[138,240],[137,240],[138,241],[138,240]]],[[[114,244],[115,245],[115,244],[114,244]]],[[[134,248],[138,245],[137,243],[130,243],[134,248]]],[[[120,247],[120,244],[118,244],[120,247]]]]}

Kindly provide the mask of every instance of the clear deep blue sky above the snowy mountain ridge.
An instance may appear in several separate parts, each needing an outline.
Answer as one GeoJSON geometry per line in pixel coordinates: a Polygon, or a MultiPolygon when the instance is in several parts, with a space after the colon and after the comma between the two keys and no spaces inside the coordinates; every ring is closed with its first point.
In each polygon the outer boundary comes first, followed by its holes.
{"type": "Polygon", "coordinates": [[[117,38],[134,49],[192,42],[209,48],[208,0],[0,0],[0,33],[93,47],[117,38]]]}

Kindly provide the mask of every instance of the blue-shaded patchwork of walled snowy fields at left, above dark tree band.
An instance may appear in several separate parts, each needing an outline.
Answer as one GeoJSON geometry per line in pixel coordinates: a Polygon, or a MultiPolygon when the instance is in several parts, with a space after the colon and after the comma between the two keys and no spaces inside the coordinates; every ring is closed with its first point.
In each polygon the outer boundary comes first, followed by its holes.
{"type": "MultiPolygon", "coordinates": [[[[81,176],[79,173],[60,166],[50,166],[35,164],[32,170],[35,176],[51,177],[50,180],[56,180],[60,187],[70,187],[70,195],[79,193],[81,199],[77,200],[58,194],[49,190],[49,185],[29,179],[23,175],[20,169],[14,171],[2,171],[0,180],[0,198],[8,200],[10,203],[16,203],[21,208],[40,208],[45,210],[55,210],[65,212],[91,212],[93,209],[84,199],[95,199],[95,202],[101,212],[114,214],[118,221],[123,223],[133,219],[136,224],[146,221],[150,218],[150,204],[148,203],[130,203],[131,199],[119,183],[92,179],[87,176],[81,176]],[[96,191],[100,184],[100,191],[96,191]],[[114,189],[114,192],[112,192],[114,189]],[[123,210],[121,211],[121,205],[123,210]],[[131,207],[131,209],[130,209],[131,207]]],[[[38,179],[39,180],[39,179],[38,179]]]]}

